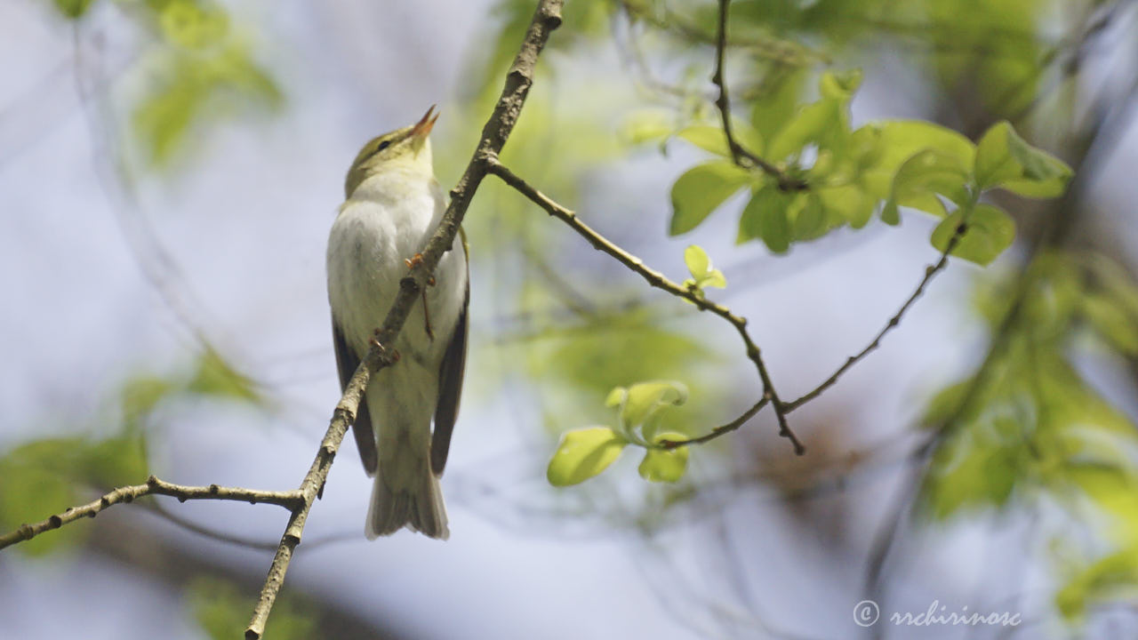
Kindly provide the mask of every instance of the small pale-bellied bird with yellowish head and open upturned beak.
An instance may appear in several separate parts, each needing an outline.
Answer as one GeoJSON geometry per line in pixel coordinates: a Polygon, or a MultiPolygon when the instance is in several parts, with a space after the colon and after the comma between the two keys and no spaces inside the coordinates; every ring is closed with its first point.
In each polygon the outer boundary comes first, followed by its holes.
{"type": "MultiPolygon", "coordinates": [[[[364,145],[345,180],[347,199],[328,239],[328,300],[341,388],[446,208],[431,166],[434,109],[364,145]]],[[[430,538],[450,534],[438,478],[467,361],[468,262],[465,243],[455,237],[399,337],[384,345],[397,350],[399,361],[371,379],[360,403],[353,432],[364,470],[374,476],[364,527],[370,540],[404,526],[430,538]]]]}

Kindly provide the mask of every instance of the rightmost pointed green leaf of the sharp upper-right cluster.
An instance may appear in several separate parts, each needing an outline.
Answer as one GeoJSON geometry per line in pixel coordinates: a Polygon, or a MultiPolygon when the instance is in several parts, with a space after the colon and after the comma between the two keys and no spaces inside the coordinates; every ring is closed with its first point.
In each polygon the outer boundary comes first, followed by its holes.
{"type": "Polygon", "coordinates": [[[974,171],[982,189],[998,187],[1031,198],[1062,195],[1072,175],[1070,166],[1028,145],[1006,121],[980,139],[974,171]]]}

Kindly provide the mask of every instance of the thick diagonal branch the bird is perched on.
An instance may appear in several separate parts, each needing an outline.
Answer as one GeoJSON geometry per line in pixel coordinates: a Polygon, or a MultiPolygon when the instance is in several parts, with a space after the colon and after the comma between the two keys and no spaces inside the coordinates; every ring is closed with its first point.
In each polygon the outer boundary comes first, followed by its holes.
{"type": "Polygon", "coordinates": [[[534,67],[537,64],[537,57],[545,47],[550,32],[561,25],[561,6],[562,0],[542,0],[538,3],[521,49],[506,74],[505,87],[494,107],[494,113],[483,128],[483,134],[470,164],[467,165],[457,186],[451,190],[451,204],[435,233],[427,243],[427,247],[422,251],[422,261],[415,264],[410,273],[399,281],[399,295],[391,304],[382,326],[376,331],[376,342],[372,344],[372,348],[368,352],[360,368],[356,369],[355,375],[352,376],[344,396],[336,407],[336,412],[321,443],[320,451],[316,453],[316,459],[305,475],[304,482],[300,483],[304,503],[294,511],[288,527],[284,530],[284,535],[281,538],[277,556],[269,568],[269,576],[261,590],[261,598],[253,610],[253,620],[249,621],[249,626],[245,631],[247,640],[257,640],[264,634],[269,613],[272,610],[277,594],[284,582],[284,572],[288,571],[294,550],[300,543],[300,534],[304,531],[308,511],[328,477],[328,470],[340,442],[344,440],[344,434],[355,418],[360,399],[371,375],[397,360],[395,351],[385,350],[384,345],[393,344],[399,335],[419,293],[434,273],[439,259],[454,244],[454,237],[459,232],[459,225],[462,224],[470,200],[486,175],[489,166],[488,158],[495,157],[502,150],[514,123],[518,122],[518,115],[521,113],[526,96],[534,82],[534,67]]]}

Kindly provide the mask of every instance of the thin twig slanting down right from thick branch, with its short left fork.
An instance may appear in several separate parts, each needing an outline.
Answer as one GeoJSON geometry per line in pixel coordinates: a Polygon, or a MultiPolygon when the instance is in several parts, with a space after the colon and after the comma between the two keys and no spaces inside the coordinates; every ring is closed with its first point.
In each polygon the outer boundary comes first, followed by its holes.
{"type": "Polygon", "coordinates": [[[778,399],[778,393],[775,391],[774,384],[770,381],[770,374],[767,371],[767,366],[762,361],[762,354],[758,345],[754,344],[754,340],[751,339],[751,335],[747,330],[745,318],[735,315],[726,306],[710,302],[706,297],[696,295],[694,292],[687,289],[686,287],[683,287],[674,282],[673,280],[669,280],[663,273],[660,273],[659,271],[649,268],[648,265],[644,264],[643,260],[624,251],[622,248],[613,244],[604,236],[597,233],[595,230],[593,230],[592,227],[582,222],[580,219],[577,218],[576,213],[559,205],[558,203],[550,199],[545,194],[542,194],[537,189],[529,186],[528,182],[526,182],[517,174],[514,174],[512,171],[506,169],[505,165],[503,165],[498,161],[496,155],[490,155],[486,157],[486,166],[489,173],[497,175],[498,178],[502,179],[503,182],[505,182],[510,187],[513,187],[513,189],[517,190],[519,194],[526,196],[537,206],[545,210],[546,213],[568,224],[579,236],[588,240],[588,243],[593,245],[593,248],[609,254],[620,264],[624,264],[628,269],[638,273],[642,278],[644,278],[644,280],[648,281],[650,286],[667,292],[676,297],[684,298],[694,304],[696,307],[699,307],[700,311],[707,311],[723,318],[724,320],[729,322],[731,326],[734,327],[735,330],[739,333],[740,338],[742,338],[743,340],[743,346],[747,350],[747,358],[754,363],[754,368],[759,372],[759,378],[762,380],[762,399],[759,400],[759,402],[754,407],[748,410],[748,412],[743,413],[743,416],[741,416],[739,419],[728,422],[723,427],[718,427],[717,429],[712,430],[711,434],[688,441],[674,442],[667,446],[675,448],[685,444],[707,442],[708,440],[718,437],[718,435],[723,435],[724,433],[735,430],[740,426],[742,426],[743,422],[750,419],[751,416],[758,412],[758,410],[761,409],[764,404],[769,402],[770,405],[774,407],[775,417],[778,419],[778,435],[789,438],[791,441],[791,444],[794,445],[794,453],[799,456],[806,453],[806,448],[802,446],[802,443],[798,440],[794,433],[790,430],[790,425],[786,422],[786,415],[785,415],[786,412],[783,409],[784,404],[778,399]]]}

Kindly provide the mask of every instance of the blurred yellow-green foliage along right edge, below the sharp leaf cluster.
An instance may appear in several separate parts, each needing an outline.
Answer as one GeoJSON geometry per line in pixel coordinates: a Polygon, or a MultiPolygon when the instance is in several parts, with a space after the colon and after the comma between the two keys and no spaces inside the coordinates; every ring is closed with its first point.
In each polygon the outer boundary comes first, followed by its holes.
{"type": "Polygon", "coordinates": [[[1057,607],[1081,617],[1090,602],[1138,584],[1138,432],[1074,356],[1088,343],[1138,353],[1138,286],[1102,256],[1050,253],[1024,279],[989,285],[978,306],[993,331],[1014,325],[996,335],[980,372],[930,403],[925,424],[946,430],[922,511],[946,519],[1057,502],[1112,549],[1062,567],[1057,607]]]}

